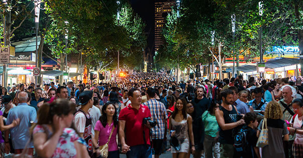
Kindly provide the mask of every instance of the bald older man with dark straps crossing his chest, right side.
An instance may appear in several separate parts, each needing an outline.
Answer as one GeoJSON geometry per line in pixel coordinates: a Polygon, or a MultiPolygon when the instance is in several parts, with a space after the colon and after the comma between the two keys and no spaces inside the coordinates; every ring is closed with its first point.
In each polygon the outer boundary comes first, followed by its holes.
{"type": "MultiPolygon", "coordinates": [[[[282,108],[283,117],[282,120],[288,120],[290,122],[291,117],[294,115],[293,107],[292,107],[292,101],[293,101],[293,95],[290,85],[284,86],[282,89],[282,96],[283,98],[279,101],[280,106],[282,108]]],[[[291,155],[291,147],[294,140],[294,135],[289,134],[289,140],[284,141],[284,152],[286,157],[289,157],[291,155]]]]}

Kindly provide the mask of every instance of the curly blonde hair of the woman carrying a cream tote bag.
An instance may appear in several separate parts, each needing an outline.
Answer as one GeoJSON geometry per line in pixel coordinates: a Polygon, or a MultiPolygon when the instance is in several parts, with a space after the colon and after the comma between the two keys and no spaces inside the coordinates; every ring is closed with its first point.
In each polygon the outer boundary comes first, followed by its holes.
{"type": "Polygon", "coordinates": [[[283,116],[280,104],[277,101],[270,101],[266,105],[264,117],[272,119],[281,119],[283,116]]]}

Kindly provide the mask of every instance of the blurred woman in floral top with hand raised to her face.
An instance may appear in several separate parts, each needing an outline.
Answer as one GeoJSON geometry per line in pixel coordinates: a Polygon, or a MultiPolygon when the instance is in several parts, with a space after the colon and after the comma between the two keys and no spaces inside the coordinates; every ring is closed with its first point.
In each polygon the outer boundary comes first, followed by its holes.
{"type": "Polygon", "coordinates": [[[39,157],[89,157],[85,141],[70,128],[75,109],[75,104],[66,99],[39,108],[38,122],[31,127],[39,157]]]}

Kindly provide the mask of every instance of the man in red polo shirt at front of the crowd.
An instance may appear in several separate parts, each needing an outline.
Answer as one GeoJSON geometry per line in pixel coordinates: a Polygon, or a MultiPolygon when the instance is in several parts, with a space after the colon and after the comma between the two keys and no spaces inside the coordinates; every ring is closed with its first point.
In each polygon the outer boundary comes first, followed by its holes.
{"type": "Polygon", "coordinates": [[[128,92],[131,104],[123,108],[119,114],[119,136],[122,144],[122,152],[127,152],[128,158],[151,158],[150,125],[143,124],[145,117],[151,117],[149,108],[141,104],[141,92],[131,88],[128,92]],[[126,133],[124,132],[126,126],[126,133]],[[125,141],[125,134],[127,140],[125,141]]]}

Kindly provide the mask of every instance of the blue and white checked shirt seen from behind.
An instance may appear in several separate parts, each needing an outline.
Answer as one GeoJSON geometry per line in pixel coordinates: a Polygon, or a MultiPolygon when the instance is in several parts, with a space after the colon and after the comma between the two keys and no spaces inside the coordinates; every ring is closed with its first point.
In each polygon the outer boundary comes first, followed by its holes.
{"type": "Polygon", "coordinates": [[[149,99],[143,104],[148,106],[152,119],[157,121],[157,125],[152,128],[152,139],[164,139],[165,123],[167,120],[165,105],[155,98],[149,99]]]}

